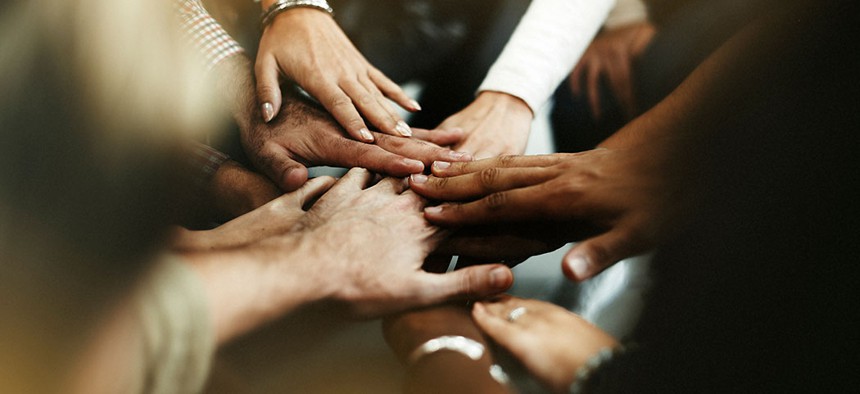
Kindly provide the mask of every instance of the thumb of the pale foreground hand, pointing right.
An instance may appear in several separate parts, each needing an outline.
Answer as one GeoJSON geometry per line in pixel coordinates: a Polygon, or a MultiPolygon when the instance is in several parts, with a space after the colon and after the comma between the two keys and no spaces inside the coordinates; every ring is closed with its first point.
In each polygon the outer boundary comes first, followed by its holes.
{"type": "Polygon", "coordinates": [[[480,299],[500,294],[514,283],[511,269],[501,265],[467,267],[446,274],[427,274],[423,286],[425,305],[462,299],[480,299]]]}

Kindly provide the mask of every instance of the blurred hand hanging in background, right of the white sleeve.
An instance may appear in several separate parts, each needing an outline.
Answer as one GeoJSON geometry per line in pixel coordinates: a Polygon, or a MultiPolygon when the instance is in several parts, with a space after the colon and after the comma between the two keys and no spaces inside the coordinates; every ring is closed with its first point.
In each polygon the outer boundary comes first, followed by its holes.
{"type": "Polygon", "coordinates": [[[600,33],[582,55],[570,75],[573,94],[582,96],[583,76],[587,78],[587,96],[594,119],[600,119],[600,81],[606,78],[612,93],[628,119],[638,108],[633,93],[633,63],[642,55],[656,30],[650,22],[607,30],[600,33]]]}

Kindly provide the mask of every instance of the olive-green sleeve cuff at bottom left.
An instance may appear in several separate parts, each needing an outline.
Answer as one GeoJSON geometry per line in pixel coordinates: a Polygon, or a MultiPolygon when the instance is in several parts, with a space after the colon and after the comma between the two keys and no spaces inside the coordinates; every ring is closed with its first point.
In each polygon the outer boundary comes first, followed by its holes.
{"type": "Polygon", "coordinates": [[[136,298],[140,331],[132,392],[198,393],[215,353],[215,333],[201,279],[178,257],[167,256],[136,298]]]}

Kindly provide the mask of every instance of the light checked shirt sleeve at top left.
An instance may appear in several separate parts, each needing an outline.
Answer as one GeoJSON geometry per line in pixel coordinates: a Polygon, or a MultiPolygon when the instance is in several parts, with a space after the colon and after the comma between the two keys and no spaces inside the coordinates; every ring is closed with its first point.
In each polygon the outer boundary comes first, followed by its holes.
{"type": "Polygon", "coordinates": [[[200,0],[176,0],[175,5],[184,38],[200,51],[207,69],[211,70],[222,60],[244,52],[239,43],[203,8],[200,0]]]}

